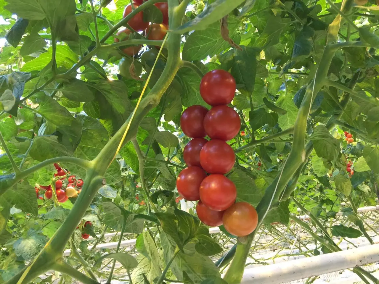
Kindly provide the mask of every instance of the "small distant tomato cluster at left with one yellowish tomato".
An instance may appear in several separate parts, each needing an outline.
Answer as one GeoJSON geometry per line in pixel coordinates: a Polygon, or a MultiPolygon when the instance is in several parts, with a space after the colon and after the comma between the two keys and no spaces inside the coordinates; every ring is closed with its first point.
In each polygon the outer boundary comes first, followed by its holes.
{"type": "MultiPolygon", "coordinates": [[[[66,170],[62,169],[60,165],[54,164],[55,169],[57,172],[54,174],[55,177],[58,177],[59,179],[55,181],[55,193],[56,198],[60,203],[66,202],[69,197],[78,197],[78,194],[81,191],[81,187],[83,186],[83,180],[82,179],[76,179],[75,176],[69,176],[67,178],[67,185],[65,188],[63,188],[63,184],[66,184],[66,176],[67,173],[66,170]],[[62,177],[62,178],[60,178],[62,177]],[[77,190],[78,189],[78,190],[77,190]]],[[[53,188],[51,185],[49,186],[36,186],[36,195],[38,198],[43,199],[43,197],[39,196],[40,190],[46,190],[45,191],[45,198],[50,199],[53,197],[53,188]]]]}

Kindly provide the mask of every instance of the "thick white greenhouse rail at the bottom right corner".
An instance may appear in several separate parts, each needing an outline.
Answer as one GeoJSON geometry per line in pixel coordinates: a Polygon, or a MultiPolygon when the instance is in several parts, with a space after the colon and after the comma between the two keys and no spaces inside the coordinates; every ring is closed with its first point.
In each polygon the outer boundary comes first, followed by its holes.
{"type": "Polygon", "coordinates": [[[245,269],[241,283],[280,284],[379,262],[379,244],[245,269]]]}

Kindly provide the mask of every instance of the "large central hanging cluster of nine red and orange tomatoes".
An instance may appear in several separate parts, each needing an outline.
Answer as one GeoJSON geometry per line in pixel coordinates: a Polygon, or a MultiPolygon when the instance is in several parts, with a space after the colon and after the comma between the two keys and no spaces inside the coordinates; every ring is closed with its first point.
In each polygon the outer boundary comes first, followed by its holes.
{"type": "Polygon", "coordinates": [[[202,78],[200,95],[212,108],[190,106],[180,117],[183,133],[193,139],[183,150],[188,167],[179,173],[176,186],[186,200],[199,200],[196,212],[204,224],[224,224],[230,234],[246,236],[257,226],[257,212],[249,203],[235,203],[235,184],[224,176],[235,163],[234,151],[226,141],[241,128],[239,115],[227,106],[235,89],[235,80],[227,71],[212,70],[202,78]]]}

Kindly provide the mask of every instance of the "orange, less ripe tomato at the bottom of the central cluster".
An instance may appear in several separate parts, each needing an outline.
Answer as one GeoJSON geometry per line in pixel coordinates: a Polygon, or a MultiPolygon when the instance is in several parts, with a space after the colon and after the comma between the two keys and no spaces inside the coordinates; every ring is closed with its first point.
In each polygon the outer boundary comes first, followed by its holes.
{"type": "Polygon", "coordinates": [[[237,237],[247,236],[258,225],[258,214],[255,208],[247,202],[237,202],[230,206],[222,217],[225,229],[237,237]]]}

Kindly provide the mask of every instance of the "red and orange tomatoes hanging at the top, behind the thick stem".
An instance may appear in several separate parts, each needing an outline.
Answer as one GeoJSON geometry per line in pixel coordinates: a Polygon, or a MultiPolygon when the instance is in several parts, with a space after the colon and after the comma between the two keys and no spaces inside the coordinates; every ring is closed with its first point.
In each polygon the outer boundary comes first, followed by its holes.
{"type": "MultiPolygon", "coordinates": [[[[133,9],[136,9],[139,5],[143,3],[143,0],[134,0],[133,2],[133,8],[132,4],[129,4],[125,7],[124,15],[125,18],[128,16],[133,9]]],[[[147,39],[160,41],[164,38],[164,36],[167,33],[168,30],[168,4],[167,2],[158,2],[154,4],[163,15],[163,22],[162,23],[149,23],[144,22],[143,20],[143,11],[137,13],[132,19],[128,20],[128,25],[135,31],[145,31],[147,39]]],[[[129,38],[129,35],[133,33],[133,31],[129,30],[128,28],[121,30],[117,33],[117,36],[121,36],[121,40],[125,41],[129,38]]],[[[120,40],[118,38],[114,39],[115,42],[119,42],[120,40]]],[[[139,50],[141,50],[142,45],[137,46],[131,46],[126,47],[122,49],[122,51],[129,55],[134,56],[138,53],[139,50]]]]}

